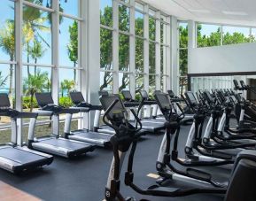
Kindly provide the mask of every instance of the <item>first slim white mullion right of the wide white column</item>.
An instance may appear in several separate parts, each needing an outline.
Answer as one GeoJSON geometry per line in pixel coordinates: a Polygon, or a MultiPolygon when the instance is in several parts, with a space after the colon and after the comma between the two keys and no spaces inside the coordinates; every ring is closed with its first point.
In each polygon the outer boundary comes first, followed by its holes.
{"type": "MultiPolygon", "coordinates": [[[[112,1],[112,26],[119,30],[119,3],[112,1]]],[[[112,32],[112,92],[119,93],[119,32],[112,32]]]]}

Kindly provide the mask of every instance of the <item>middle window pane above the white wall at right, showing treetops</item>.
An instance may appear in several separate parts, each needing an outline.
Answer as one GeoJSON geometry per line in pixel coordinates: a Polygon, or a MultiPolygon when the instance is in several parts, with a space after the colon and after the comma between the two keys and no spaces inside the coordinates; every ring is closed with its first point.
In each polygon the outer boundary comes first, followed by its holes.
{"type": "Polygon", "coordinates": [[[223,26],[223,45],[237,43],[250,43],[249,27],[223,26]]]}

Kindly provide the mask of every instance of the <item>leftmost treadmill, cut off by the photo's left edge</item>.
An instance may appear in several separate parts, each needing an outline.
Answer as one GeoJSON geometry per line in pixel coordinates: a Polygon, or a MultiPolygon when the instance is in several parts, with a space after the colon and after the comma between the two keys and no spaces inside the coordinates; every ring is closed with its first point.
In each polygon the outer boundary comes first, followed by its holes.
{"type": "MultiPolygon", "coordinates": [[[[0,116],[10,117],[12,120],[12,141],[0,146],[0,168],[20,174],[37,167],[50,165],[53,157],[38,151],[32,151],[27,146],[17,143],[17,120],[30,118],[36,120],[35,112],[18,112],[10,108],[11,104],[7,94],[0,94],[0,116]]],[[[29,124],[29,131],[34,132],[29,124]]]]}

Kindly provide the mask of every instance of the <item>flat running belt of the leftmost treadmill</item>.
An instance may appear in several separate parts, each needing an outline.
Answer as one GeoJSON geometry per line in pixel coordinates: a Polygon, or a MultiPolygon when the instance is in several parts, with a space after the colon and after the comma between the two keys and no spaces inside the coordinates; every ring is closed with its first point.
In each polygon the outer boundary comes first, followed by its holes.
{"type": "Polygon", "coordinates": [[[0,157],[8,158],[20,164],[26,164],[41,160],[45,157],[37,155],[29,151],[19,150],[13,147],[4,147],[0,149],[0,157]]]}

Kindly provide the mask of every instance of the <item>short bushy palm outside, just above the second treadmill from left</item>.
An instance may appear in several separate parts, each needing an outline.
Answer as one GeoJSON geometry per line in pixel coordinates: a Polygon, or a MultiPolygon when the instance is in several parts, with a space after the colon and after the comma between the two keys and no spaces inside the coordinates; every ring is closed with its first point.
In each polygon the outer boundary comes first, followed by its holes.
{"type": "Polygon", "coordinates": [[[41,72],[40,69],[36,71],[35,75],[29,74],[28,77],[25,79],[24,89],[26,90],[25,93],[27,94],[27,96],[30,96],[30,112],[32,112],[34,107],[33,100],[35,93],[43,92],[43,90],[47,88],[47,80],[48,73],[41,72]]]}

